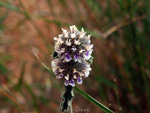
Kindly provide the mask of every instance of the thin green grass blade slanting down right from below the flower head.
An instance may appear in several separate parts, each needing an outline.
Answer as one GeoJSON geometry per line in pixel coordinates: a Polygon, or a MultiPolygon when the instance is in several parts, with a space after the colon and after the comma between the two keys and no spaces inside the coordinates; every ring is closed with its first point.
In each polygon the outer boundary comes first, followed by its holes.
{"type": "Polygon", "coordinates": [[[77,87],[74,87],[74,89],[76,91],[78,91],[82,96],[84,96],[87,100],[89,100],[90,102],[94,103],[96,106],[98,106],[101,110],[103,110],[106,113],[114,113],[113,111],[111,111],[109,108],[107,108],[106,106],[104,106],[102,103],[98,102],[96,99],[94,99],[93,97],[91,97],[90,95],[88,95],[87,93],[85,93],[84,91],[80,90],[77,87]]]}

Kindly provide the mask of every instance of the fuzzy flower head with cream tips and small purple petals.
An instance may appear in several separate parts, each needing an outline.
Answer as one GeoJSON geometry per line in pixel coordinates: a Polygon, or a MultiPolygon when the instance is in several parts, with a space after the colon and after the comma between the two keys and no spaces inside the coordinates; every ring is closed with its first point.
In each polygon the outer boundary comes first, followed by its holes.
{"type": "Polygon", "coordinates": [[[82,78],[88,77],[93,57],[91,35],[86,35],[84,29],[78,31],[75,25],[70,31],[62,29],[63,34],[54,37],[55,51],[53,53],[52,70],[56,78],[64,78],[65,86],[75,86],[75,80],[82,84],[82,78]]]}

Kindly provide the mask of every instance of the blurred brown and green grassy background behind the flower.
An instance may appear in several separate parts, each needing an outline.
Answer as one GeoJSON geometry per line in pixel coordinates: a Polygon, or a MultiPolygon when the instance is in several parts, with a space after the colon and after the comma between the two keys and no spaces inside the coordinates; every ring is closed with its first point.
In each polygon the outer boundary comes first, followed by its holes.
{"type": "MultiPolygon", "coordinates": [[[[0,113],[60,113],[63,81],[34,54],[51,68],[53,37],[70,25],[94,43],[92,72],[77,87],[116,113],[150,113],[148,1],[0,0],[0,113]]],[[[75,113],[103,113],[74,92],[75,113]]]]}

